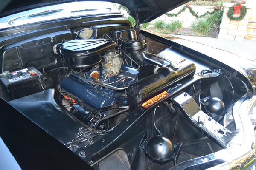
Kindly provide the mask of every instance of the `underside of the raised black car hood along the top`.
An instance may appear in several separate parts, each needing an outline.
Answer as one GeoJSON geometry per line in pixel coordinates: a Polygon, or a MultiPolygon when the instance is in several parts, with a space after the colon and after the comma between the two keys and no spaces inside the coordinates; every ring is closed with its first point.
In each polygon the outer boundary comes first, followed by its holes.
{"type": "MultiPolygon", "coordinates": [[[[0,0],[0,17],[33,8],[83,0],[0,0]]],[[[89,1],[89,0],[88,0],[89,1]]],[[[126,6],[137,23],[146,23],[190,0],[101,0],[126,6]]]]}

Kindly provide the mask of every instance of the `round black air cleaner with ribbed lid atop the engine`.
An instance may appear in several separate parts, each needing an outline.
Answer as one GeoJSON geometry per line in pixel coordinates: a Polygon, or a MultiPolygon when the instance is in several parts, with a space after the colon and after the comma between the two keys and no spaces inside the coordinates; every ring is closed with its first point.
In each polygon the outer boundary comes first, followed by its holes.
{"type": "Polygon", "coordinates": [[[101,62],[101,53],[116,46],[116,42],[105,39],[70,40],[61,47],[67,65],[86,68],[101,62]]]}

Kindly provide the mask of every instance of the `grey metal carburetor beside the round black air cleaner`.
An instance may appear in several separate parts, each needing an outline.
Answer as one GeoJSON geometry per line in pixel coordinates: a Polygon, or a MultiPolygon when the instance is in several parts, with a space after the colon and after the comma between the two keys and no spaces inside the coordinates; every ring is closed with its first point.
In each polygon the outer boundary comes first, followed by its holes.
{"type": "Polygon", "coordinates": [[[108,51],[102,59],[102,68],[105,71],[104,76],[114,76],[121,72],[122,59],[115,51],[108,51]]]}

